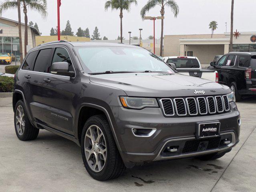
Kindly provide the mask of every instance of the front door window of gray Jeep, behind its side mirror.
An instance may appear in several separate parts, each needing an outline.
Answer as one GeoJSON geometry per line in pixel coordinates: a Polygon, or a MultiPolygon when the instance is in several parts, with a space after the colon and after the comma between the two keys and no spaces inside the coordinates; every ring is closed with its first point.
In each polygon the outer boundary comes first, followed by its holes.
{"type": "Polygon", "coordinates": [[[68,62],[69,63],[69,71],[74,71],[72,66],[71,58],[69,57],[69,53],[65,48],[56,48],[54,52],[54,56],[52,59],[52,64],[55,62],[68,62]]]}

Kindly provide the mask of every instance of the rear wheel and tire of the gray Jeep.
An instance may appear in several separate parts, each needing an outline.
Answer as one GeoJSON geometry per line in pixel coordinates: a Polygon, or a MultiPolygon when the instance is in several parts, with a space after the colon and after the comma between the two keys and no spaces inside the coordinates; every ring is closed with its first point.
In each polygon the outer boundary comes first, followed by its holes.
{"type": "Polygon", "coordinates": [[[30,123],[28,113],[22,100],[17,102],[14,109],[14,127],[18,139],[22,141],[34,140],[39,133],[39,129],[35,128],[30,123]],[[21,111],[21,113],[19,111],[21,111]],[[22,118],[20,118],[20,116],[22,118]],[[20,125],[22,126],[20,127],[20,125]]]}

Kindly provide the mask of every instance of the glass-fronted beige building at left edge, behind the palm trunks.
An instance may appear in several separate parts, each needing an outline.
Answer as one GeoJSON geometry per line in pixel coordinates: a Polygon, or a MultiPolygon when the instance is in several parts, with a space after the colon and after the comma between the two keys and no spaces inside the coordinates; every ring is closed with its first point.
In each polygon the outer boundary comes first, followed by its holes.
{"type": "MultiPolygon", "coordinates": [[[[21,36],[22,36],[22,53],[24,57],[24,32],[25,24],[21,24],[21,36]]],[[[36,46],[36,36],[39,32],[36,28],[28,26],[28,46],[27,51],[36,46]]],[[[0,17],[0,52],[10,53],[14,55],[13,46],[17,45],[16,51],[17,60],[20,58],[20,44],[19,44],[19,30],[18,21],[10,20],[0,17]]]]}

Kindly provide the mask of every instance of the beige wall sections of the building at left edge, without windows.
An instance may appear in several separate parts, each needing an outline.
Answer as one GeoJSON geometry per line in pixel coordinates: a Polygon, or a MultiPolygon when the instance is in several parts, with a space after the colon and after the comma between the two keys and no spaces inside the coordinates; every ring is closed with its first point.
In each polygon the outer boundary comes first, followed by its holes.
{"type": "MultiPolygon", "coordinates": [[[[18,29],[17,22],[5,20],[3,18],[0,18],[0,22],[11,26],[11,27],[0,27],[0,29],[3,30],[2,34],[0,34],[0,36],[7,36],[7,37],[18,37],[19,36],[19,29],[18,29]]],[[[25,37],[25,26],[24,25],[21,25],[21,36],[22,36],[22,53],[23,53],[23,58],[24,58],[24,43],[25,43],[24,42],[24,37],[25,37]]],[[[35,46],[35,33],[28,26],[28,47],[33,48],[34,46],[35,46]]]]}

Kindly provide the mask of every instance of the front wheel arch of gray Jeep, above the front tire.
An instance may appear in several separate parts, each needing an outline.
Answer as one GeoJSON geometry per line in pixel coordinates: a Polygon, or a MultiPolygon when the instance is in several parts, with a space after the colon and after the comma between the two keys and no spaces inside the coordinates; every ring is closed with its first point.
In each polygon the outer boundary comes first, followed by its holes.
{"type": "Polygon", "coordinates": [[[107,118],[107,121],[109,122],[109,126],[111,128],[111,132],[113,134],[113,137],[115,139],[115,143],[117,145],[117,148],[119,151],[121,151],[121,147],[119,145],[119,142],[117,140],[117,136],[113,127],[113,123],[112,120],[110,118],[109,112],[107,111],[106,108],[96,105],[96,104],[91,104],[91,103],[83,103],[81,104],[78,114],[77,114],[77,129],[75,130],[75,136],[77,137],[77,140],[79,141],[79,144],[81,144],[81,133],[83,131],[83,126],[85,124],[85,122],[94,115],[97,114],[104,114],[107,118]],[[90,114],[87,115],[85,114],[85,112],[87,112],[88,110],[90,110],[90,114]]]}

